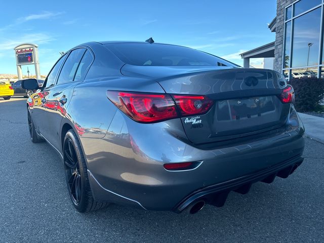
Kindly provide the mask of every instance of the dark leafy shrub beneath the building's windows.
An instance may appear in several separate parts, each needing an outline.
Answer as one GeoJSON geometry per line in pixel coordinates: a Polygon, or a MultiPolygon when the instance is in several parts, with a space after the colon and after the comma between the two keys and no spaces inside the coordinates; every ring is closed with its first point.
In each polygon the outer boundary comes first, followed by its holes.
{"type": "Polygon", "coordinates": [[[324,80],[317,77],[293,78],[295,108],[299,112],[317,111],[324,98],[324,80]]]}

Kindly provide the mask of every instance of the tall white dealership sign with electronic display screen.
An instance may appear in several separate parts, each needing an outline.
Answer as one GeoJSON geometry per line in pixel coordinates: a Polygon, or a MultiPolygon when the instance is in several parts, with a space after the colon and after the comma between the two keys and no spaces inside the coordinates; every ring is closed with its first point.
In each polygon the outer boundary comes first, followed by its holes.
{"type": "Polygon", "coordinates": [[[21,66],[30,64],[35,66],[36,78],[41,79],[41,72],[39,71],[38,46],[31,43],[24,43],[15,47],[14,50],[16,53],[18,79],[22,79],[21,66]]]}

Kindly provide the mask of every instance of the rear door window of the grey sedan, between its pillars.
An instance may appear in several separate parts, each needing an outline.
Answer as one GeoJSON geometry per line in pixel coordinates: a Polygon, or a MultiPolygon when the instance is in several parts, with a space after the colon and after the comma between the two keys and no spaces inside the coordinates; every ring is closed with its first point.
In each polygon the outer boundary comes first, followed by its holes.
{"type": "Polygon", "coordinates": [[[80,63],[80,60],[81,60],[83,54],[85,53],[85,51],[86,51],[86,49],[79,48],[79,49],[73,50],[70,53],[70,55],[67,57],[64,65],[62,67],[61,73],[57,80],[58,85],[73,82],[76,69],[77,69],[77,67],[80,63]]]}

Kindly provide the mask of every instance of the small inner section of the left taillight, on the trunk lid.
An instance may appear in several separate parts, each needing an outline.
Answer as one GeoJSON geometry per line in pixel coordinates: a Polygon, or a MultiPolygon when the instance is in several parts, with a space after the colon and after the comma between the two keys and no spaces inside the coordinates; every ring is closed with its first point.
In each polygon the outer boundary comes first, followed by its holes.
{"type": "Polygon", "coordinates": [[[206,113],[213,105],[213,101],[206,96],[174,95],[181,115],[198,115],[206,113]]]}

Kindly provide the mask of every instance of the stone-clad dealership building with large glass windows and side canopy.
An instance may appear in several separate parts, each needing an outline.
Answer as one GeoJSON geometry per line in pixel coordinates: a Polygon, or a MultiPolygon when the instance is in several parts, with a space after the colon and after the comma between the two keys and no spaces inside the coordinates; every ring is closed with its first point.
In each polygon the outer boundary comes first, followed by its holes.
{"type": "Polygon", "coordinates": [[[251,58],[274,58],[273,69],[287,77],[324,76],[323,1],[277,0],[276,17],[269,29],[275,41],[240,54],[244,67],[251,58]]]}

